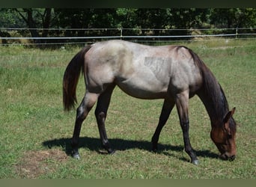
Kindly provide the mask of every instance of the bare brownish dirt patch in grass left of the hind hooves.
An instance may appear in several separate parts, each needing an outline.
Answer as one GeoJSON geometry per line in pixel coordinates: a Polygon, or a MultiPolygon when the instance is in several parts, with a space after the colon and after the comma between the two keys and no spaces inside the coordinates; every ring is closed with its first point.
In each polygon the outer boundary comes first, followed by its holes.
{"type": "Polygon", "coordinates": [[[52,173],[58,165],[67,161],[67,154],[61,150],[28,151],[16,165],[19,177],[35,179],[40,175],[52,173]]]}

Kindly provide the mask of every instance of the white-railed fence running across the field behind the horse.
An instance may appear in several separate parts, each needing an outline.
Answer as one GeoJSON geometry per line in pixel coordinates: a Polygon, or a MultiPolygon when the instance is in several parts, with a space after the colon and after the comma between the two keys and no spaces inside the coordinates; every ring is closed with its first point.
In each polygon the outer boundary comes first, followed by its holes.
{"type": "Polygon", "coordinates": [[[0,45],[64,45],[93,43],[98,40],[132,40],[138,43],[170,42],[175,40],[195,41],[199,38],[216,40],[255,39],[256,28],[205,28],[205,29],[151,29],[151,28],[0,28],[0,45]],[[52,37],[30,37],[30,31],[38,34],[48,31],[52,37]],[[67,36],[67,35],[79,36],[67,36]],[[25,36],[24,36],[25,35],[25,36]],[[54,36],[57,35],[57,36],[54,36]],[[83,35],[83,36],[81,36],[83,35]],[[22,42],[22,40],[26,40],[22,42]],[[34,41],[37,42],[35,43],[34,41]],[[40,43],[38,42],[40,41],[40,43]]]}

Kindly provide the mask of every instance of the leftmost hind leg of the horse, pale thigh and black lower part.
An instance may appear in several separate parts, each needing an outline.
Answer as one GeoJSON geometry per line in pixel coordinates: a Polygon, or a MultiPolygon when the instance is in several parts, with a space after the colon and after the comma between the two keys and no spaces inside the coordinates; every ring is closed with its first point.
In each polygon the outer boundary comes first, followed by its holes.
{"type": "Polygon", "coordinates": [[[98,95],[95,93],[85,93],[85,96],[82,99],[79,108],[77,108],[76,110],[76,124],[73,132],[73,138],[71,141],[72,156],[76,159],[79,159],[78,147],[82,122],[85,120],[89,111],[94,106],[94,103],[97,101],[97,97],[98,95]]]}

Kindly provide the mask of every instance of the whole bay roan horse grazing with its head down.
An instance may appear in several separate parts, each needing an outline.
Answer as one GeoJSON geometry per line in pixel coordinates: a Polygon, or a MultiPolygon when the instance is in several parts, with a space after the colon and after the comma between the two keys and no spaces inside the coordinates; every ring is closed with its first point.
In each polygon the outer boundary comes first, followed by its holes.
{"type": "Polygon", "coordinates": [[[213,73],[195,52],[185,46],[144,46],[123,40],[109,40],[85,46],[68,64],[63,79],[64,108],[76,102],[79,74],[85,77],[85,96],[76,111],[72,154],[79,159],[79,134],[83,120],[97,102],[95,115],[103,147],[114,153],[106,135],[105,120],[112,91],[122,91],[140,99],[164,99],[159,123],[152,137],[157,149],[159,134],[176,104],[183,132],[185,151],[191,162],[198,164],[189,141],[189,98],[195,94],[204,103],[210,117],[210,137],[219,149],[221,159],[236,156],[235,108],[228,102],[213,73]]]}

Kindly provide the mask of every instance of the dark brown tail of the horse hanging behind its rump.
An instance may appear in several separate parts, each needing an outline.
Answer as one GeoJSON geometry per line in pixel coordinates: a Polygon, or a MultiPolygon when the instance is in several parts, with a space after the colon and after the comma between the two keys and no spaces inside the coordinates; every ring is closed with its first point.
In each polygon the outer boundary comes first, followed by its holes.
{"type": "Polygon", "coordinates": [[[85,53],[91,46],[85,46],[80,52],[78,52],[67,65],[67,68],[63,77],[63,104],[64,110],[70,111],[74,108],[76,100],[76,85],[79,81],[80,72],[84,71],[85,53]]]}

